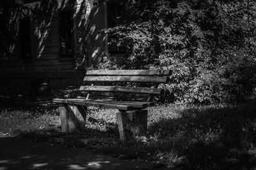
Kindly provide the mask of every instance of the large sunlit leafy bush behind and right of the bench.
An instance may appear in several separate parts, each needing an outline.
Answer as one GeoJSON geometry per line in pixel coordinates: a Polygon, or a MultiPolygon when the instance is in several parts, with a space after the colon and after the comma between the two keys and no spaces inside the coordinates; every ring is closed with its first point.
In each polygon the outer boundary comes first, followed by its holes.
{"type": "Polygon", "coordinates": [[[129,55],[104,57],[101,69],[172,69],[167,89],[176,103],[255,99],[255,1],[136,0],[129,6],[124,20],[105,31],[129,55]]]}

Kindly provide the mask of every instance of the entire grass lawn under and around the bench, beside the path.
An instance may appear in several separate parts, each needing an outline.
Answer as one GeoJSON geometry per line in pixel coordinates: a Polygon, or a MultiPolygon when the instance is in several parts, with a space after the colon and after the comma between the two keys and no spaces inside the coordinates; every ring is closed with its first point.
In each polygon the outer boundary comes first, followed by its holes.
{"type": "Polygon", "coordinates": [[[60,134],[56,108],[42,111],[1,110],[0,132],[177,169],[256,169],[255,103],[152,107],[147,136],[125,142],[119,139],[117,110],[89,108],[85,131],[68,135],[60,134]]]}

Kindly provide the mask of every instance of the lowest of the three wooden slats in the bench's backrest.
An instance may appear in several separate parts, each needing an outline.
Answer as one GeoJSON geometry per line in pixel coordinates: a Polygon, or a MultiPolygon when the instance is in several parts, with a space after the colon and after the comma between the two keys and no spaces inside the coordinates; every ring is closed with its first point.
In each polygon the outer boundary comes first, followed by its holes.
{"type": "Polygon", "coordinates": [[[163,94],[163,89],[152,89],[147,87],[120,87],[120,86],[85,86],[82,85],[79,90],[91,92],[125,92],[138,94],[163,94]]]}

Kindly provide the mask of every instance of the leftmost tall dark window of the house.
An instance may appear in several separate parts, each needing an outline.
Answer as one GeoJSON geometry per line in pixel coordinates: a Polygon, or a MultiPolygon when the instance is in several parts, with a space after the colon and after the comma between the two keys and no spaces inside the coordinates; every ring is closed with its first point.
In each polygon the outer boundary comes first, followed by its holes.
{"type": "Polygon", "coordinates": [[[30,18],[24,17],[20,20],[20,59],[31,59],[31,36],[30,36],[30,18]]]}

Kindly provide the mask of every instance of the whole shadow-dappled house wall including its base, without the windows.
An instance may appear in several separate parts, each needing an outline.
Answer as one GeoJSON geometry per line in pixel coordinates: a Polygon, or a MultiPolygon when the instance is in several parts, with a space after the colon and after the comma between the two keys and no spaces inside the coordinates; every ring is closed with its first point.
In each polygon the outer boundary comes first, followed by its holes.
{"type": "MultiPolygon", "coordinates": [[[[44,11],[44,15],[28,13],[31,18],[31,60],[20,59],[20,13],[9,11],[9,31],[15,35],[15,41],[4,42],[0,47],[0,93],[25,93],[31,91],[33,81],[47,81],[51,87],[81,83],[74,76],[63,78],[45,78],[45,76],[29,76],[26,78],[8,78],[6,73],[35,73],[37,71],[70,71],[86,70],[96,66],[102,57],[107,55],[106,36],[99,34],[107,27],[107,6],[105,2],[93,5],[93,0],[48,0],[29,4],[33,9],[44,11]],[[74,11],[74,56],[72,59],[60,59],[60,20],[58,12],[70,9],[74,11]],[[5,75],[1,76],[4,73],[5,75]]],[[[31,75],[31,74],[30,74],[31,75]]],[[[40,74],[41,75],[41,74],[40,74]]],[[[24,76],[24,74],[23,74],[24,76]]],[[[19,77],[19,76],[18,76],[19,77]]]]}

